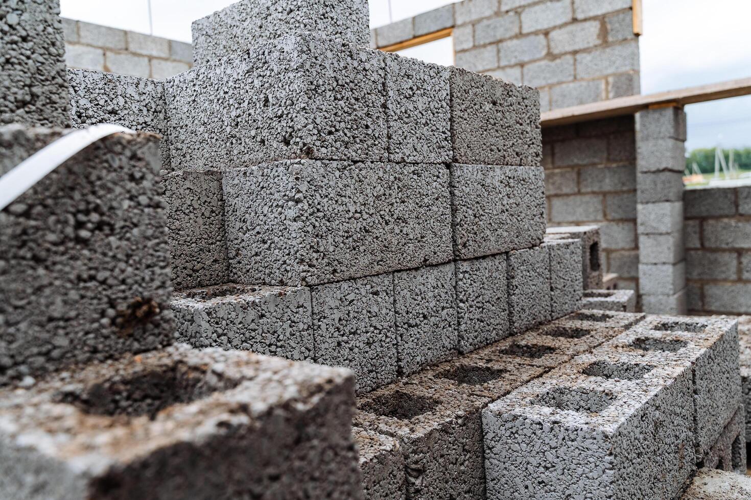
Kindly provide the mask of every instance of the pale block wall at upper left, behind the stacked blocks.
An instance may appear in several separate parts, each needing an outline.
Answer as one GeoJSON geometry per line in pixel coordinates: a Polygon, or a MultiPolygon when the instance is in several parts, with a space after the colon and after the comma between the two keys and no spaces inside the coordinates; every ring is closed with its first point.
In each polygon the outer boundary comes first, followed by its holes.
{"type": "Polygon", "coordinates": [[[81,70],[164,79],[193,65],[190,43],[62,18],[65,63],[81,70]]]}

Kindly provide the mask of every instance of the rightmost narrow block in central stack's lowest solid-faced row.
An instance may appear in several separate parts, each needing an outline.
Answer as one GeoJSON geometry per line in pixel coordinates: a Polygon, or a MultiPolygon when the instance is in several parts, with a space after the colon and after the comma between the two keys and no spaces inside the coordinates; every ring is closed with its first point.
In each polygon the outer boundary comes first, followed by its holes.
{"type": "Polygon", "coordinates": [[[550,318],[579,309],[583,293],[581,241],[556,240],[543,244],[550,255],[550,318]]]}

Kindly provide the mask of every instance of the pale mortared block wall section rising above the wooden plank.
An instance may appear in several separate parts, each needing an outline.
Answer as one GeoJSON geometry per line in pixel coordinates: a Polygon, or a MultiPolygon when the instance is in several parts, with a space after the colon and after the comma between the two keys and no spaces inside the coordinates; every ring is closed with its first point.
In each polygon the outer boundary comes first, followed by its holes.
{"type": "Polygon", "coordinates": [[[638,94],[630,0],[466,0],[372,31],[385,47],[454,28],[455,64],[541,91],[541,109],[638,94]]]}

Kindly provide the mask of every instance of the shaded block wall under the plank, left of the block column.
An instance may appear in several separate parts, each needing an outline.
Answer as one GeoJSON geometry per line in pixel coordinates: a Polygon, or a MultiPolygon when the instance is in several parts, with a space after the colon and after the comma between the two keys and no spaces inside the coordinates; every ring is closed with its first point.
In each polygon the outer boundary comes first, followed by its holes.
{"type": "Polygon", "coordinates": [[[632,117],[544,128],[548,226],[600,226],[602,266],[638,289],[632,117]]]}

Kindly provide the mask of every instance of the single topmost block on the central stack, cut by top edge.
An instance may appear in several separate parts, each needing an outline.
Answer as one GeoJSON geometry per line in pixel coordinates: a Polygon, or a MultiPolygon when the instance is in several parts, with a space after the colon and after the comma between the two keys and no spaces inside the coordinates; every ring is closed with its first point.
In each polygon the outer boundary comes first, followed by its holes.
{"type": "Polygon", "coordinates": [[[196,65],[295,31],[369,46],[367,0],[240,0],[193,22],[196,65]]]}

